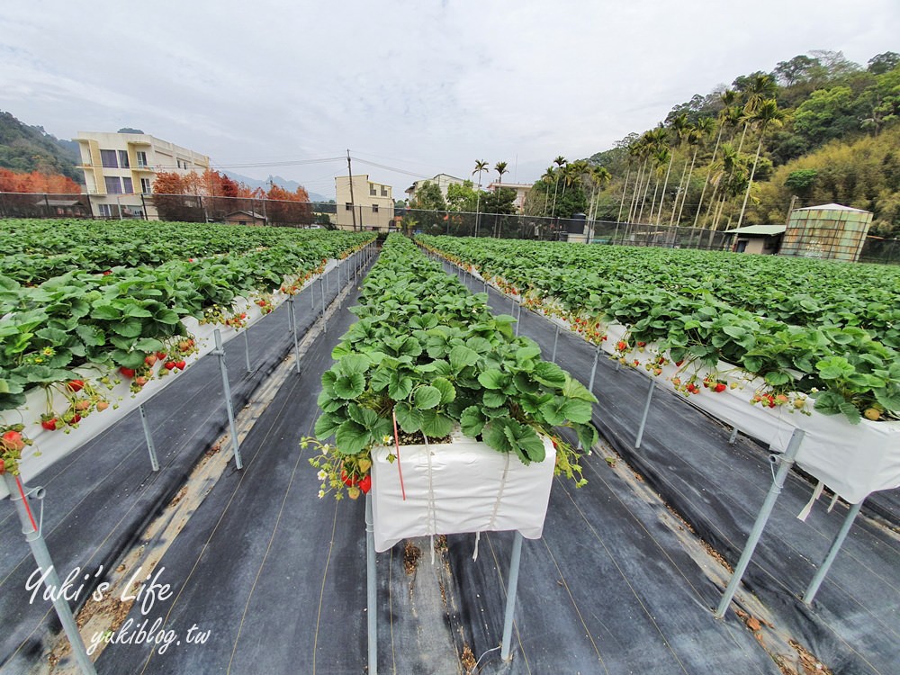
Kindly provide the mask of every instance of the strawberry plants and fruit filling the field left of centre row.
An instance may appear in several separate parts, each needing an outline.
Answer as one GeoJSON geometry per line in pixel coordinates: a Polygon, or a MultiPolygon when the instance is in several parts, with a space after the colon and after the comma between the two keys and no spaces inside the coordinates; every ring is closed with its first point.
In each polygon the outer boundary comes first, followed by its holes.
{"type": "Polygon", "coordinates": [[[0,221],[0,431],[41,433],[137,397],[371,236],[175,222],[0,221]],[[202,335],[202,338],[201,338],[202,335]]]}

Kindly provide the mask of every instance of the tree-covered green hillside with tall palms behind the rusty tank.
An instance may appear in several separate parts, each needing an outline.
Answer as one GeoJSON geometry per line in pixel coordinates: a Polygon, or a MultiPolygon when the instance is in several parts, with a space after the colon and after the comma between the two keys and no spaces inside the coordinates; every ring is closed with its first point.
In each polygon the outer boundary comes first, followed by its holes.
{"type": "Polygon", "coordinates": [[[591,167],[610,175],[598,220],[728,229],[784,222],[792,204],[839,202],[872,211],[871,233],[896,238],[900,54],[878,54],[863,67],[841,52],[813,51],[738,76],[616,148],[552,166],[539,183],[552,192],[566,175],[590,194],[598,184],[591,167]]]}

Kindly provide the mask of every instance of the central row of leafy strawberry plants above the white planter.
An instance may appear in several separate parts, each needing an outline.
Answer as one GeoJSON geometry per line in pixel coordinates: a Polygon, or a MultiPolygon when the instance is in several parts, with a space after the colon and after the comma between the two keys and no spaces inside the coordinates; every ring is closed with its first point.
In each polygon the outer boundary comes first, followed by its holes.
{"type": "MultiPolygon", "coordinates": [[[[358,320],[322,376],[315,432],[319,442],[333,436],[336,448],[311,460],[324,472],[320,494],[340,495],[348,487],[342,474],[365,481],[369,450],[390,440],[394,419],[414,442],[436,442],[458,425],[525,464],[544,460],[539,434],[553,436],[554,428],[572,428],[593,446],[595,397],[541,360],[534,341],[515,337],[512,317],[494,317],[485,301],[408,239],[388,238],[351,310],[358,320]]],[[[561,448],[557,469],[583,484],[578,453],[561,448]]]]}

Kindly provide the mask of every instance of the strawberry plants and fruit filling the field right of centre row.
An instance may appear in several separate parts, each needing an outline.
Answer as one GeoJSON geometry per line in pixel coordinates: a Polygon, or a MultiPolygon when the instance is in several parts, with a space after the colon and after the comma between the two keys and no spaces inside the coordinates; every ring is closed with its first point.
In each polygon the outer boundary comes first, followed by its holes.
{"type": "Polygon", "coordinates": [[[900,271],[663,248],[422,237],[529,309],[687,395],[756,378],[748,401],[858,423],[900,413],[900,271]],[[610,332],[612,327],[624,331],[610,332]],[[613,334],[617,339],[608,343],[613,334]],[[808,402],[807,402],[808,400],[808,402]]]}

